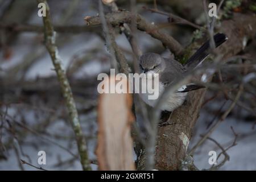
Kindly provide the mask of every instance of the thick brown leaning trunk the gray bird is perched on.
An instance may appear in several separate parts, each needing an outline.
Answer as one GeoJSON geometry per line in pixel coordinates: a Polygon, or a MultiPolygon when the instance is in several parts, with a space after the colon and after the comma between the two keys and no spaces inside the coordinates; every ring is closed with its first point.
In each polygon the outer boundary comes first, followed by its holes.
{"type": "MultiPolygon", "coordinates": [[[[256,16],[250,14],[234,14],[234,18],[224,20],[219,32],[224,32],[229,40],[216,49],[218,55],[230,57],[243,49],[242,40],[253,38],[256,33],[256,16]],[[247,26],[245,26],[245,24],[247,26]]],[[[193,43],[190,48],[196,49],[199,42],[193,43]]],[[[188,49],[190,49],[188,48],[188,49]]],[[[189,54],[191,55],[192,52],[189,54]]],[[[176,109],[169,122],[174,125],[160,127],[156,144],[156,168],[177,170],[185,157],[192,131],[199,117],[206,89],[189,93],[187,102],[176,109]],[[166,137],[167,136],[167,137],[166,137]]]]}

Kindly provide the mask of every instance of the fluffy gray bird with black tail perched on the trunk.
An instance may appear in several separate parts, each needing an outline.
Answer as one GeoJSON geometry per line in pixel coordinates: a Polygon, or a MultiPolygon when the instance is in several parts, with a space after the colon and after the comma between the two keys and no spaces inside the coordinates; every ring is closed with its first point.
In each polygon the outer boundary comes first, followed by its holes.
{"type": "MultiPolygon", "coordinates": [[[[225,34],[214,35],[214,42],[216,47],[224,43],[228,38],[225,34]]],[[[168,86],[176,78],[183,77],[184,73],[197,67],[201,64],[205,58],[209,55],[210,42],[209,40],[203,44],[192,56],[188,59],[185,65],[179,63],[174,59],[166,59],[157,53],[145,53],[139,59],[139,67],[141,73],[159,73],[159,96],[163,93],[166,86],[168,86]]],[[[204,88],[202,85],[186,84],[177,89],[175,93],[168,96],[166,102],[161,106],[163,111],[173,111],[177,107],[183,104],[187,93],[192,90],[204,88]]],[[[154,107],[158,99],[148,100],[148,93],[139,93],[142,100],[146,104],[154,107]]]]}

